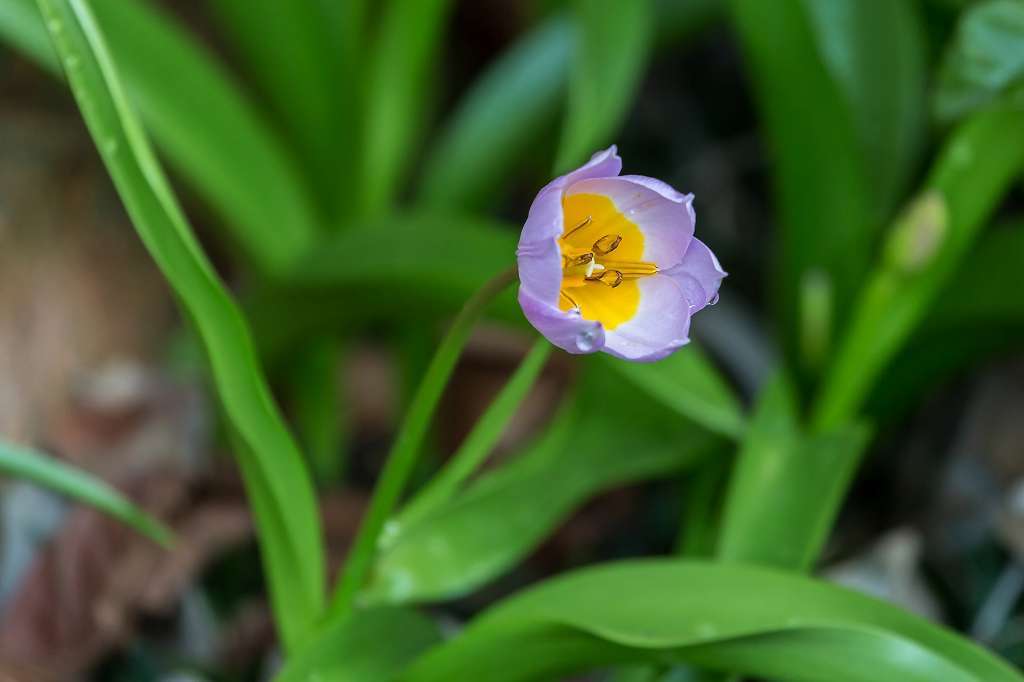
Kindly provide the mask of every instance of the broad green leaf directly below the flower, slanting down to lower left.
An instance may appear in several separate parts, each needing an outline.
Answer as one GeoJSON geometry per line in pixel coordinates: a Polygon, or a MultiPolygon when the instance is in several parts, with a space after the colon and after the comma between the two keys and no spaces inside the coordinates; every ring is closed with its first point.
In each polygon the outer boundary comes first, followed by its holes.
{"type": "Polygon", "coordinates": [[[468,594],[509,570],[594,495],[677,472],[715,443],[691,424],[637,399],[636,389],[616,377],[591,371],[583,381],[581,404],[560,411],[516,459],[408,527],[391,525],[367,601],[468,594]]]}

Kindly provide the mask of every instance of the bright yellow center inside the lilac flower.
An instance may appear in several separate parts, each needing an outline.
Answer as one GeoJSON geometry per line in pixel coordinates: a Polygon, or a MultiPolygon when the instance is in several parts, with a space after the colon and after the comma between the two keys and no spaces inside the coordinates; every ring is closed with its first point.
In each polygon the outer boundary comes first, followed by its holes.
{"type": "Polygon", "coordinates": [[[558,305],[613,330],[640,307],[637,280],[657,272],[641,260],[643,232],[602,195],[562,199],[562,289],[558,305]]]}

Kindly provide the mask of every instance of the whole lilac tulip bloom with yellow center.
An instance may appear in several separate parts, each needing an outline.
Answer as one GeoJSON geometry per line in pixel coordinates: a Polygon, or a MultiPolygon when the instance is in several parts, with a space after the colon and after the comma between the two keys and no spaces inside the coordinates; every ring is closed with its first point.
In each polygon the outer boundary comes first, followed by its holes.
{"type": "Polygon", "coordinates": [[[620,175],[614,146],[541,189],[519,238],[519,305],[570,353],[660,359],[689,341],[725,271],[693,237],[693,195],[620,175]]]}

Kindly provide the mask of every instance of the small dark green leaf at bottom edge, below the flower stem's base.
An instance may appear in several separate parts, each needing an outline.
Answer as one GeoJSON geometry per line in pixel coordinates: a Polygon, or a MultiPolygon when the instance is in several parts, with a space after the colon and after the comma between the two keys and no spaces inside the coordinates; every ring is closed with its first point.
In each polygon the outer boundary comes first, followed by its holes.
{"type": "Polygon", "coordinates": [[[437,626],[404,608],[373,608],[321,629],[274,682],[381,682],[441,640],[437,626]]]}

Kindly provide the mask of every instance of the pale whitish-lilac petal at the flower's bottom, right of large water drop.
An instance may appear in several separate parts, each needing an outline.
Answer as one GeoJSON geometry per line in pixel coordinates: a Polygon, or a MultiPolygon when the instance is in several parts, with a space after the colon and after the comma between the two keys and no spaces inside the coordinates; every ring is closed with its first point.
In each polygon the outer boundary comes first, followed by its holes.
{"type": "Polygon", "coordinates": [[[637,281],[640,307],[629,322],[605,333],[604,351],[623,359],[652,363],[689,342],[690,309],[672,278],[637,281]]]}

